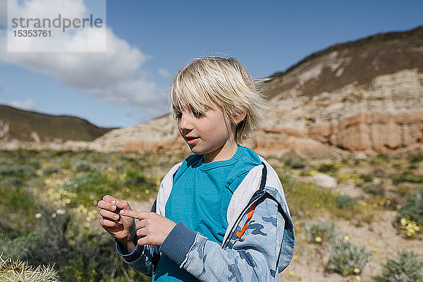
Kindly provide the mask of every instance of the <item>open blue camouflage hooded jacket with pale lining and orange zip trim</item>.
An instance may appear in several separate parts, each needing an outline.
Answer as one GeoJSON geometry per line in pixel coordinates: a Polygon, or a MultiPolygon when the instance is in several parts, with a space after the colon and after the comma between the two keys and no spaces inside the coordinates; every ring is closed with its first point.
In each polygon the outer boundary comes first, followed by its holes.
{"type": "MultiPolygon", "coordinates": [[[[278,281],[294,251],[294,227],[281,181],[265,159],[252,168],[231,197],[226,214],[228,229],[222,245],[179,222],[160,247],[137,245],[123,255],[135,270],[152,276],[162,254],[200,281],[278,281]]],[[[176,164],[161,181],[152,212],[165,215],[176,164]]]]}

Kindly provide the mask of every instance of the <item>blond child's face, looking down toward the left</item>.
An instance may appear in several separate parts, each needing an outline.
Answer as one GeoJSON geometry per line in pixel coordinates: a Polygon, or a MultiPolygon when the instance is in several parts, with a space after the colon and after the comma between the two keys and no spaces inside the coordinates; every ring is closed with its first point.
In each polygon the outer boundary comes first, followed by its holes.
{"type": "Polygon", "coordinates": [[[177,113],[177,118],[180,135],[193,153],[204,155],[204,162],[233,157],[238,147],[235,128],[226,125],[219,106],[214,105],[204,113],[182,110],[177,113]]]}

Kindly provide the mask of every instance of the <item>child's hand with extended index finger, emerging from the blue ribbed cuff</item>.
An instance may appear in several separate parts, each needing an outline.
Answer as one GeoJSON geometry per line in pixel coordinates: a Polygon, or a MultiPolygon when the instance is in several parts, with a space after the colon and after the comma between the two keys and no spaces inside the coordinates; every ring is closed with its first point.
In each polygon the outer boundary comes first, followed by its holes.
{"type": "Polygon", "coordinates": [[[130,216],[133,219],[140,219],[135,224],[137,236],[140,237],[138,245],[156,245],[161,246],[176,223],[166,217],[154,212],[135,212],[123,209],[119,212],[123,217],[130,216]]]}

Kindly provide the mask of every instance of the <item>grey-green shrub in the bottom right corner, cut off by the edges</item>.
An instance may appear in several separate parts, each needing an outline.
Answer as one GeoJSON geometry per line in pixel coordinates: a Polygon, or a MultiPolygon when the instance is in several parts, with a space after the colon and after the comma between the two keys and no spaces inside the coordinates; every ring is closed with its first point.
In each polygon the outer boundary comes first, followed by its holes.
{"type": "Polygon", "coordinates": [[[382,264],[382,274],[376,277],[379,282],[418,282],[423,281],[423,261],[412,251],[401,250],[396,259],[388,258],[382,264]]]}

